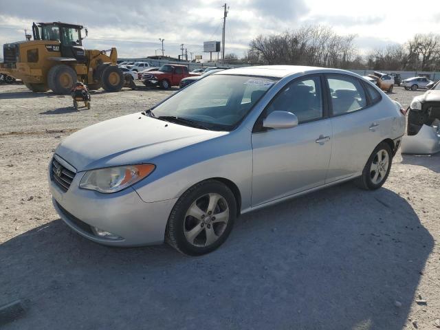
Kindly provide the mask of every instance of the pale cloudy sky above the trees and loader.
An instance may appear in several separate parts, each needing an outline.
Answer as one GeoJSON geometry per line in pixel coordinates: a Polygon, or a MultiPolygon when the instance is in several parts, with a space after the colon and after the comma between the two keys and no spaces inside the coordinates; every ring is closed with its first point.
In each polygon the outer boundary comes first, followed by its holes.
{"type": "MultiPolygon", "coordinates": [[[[340,34],[358,34],[356,43],[365,53],[376,47],[404,43],[415,33],[440,33],[438,1],[425,0],[419,8],[409,0],[229,1],[226,53],[243,56],[254,36],[315,24],[330,25],[340,34]]],[[[203,41],[221,40],[223,3],[0,0],[0,43],[24,39],[23,29],[30,29],[32,21],[63,21],[88,28],[86,47],[107,50],[114,45],[121,57],[155,54],[161,47],[159,38],[165,39],[166,55],[177,56],[181,43],[188,49],[188,55],[202,54],[203,41]]]]}

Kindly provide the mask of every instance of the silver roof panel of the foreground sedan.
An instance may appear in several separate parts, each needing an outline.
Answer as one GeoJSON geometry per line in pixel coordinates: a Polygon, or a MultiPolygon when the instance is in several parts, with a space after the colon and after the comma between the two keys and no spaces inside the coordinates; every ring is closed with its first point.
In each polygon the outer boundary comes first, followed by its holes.
{"type": "Polygon", "coordinates": [[[349,74],[356,76],[352,72],[342,69],[329,69],[326,67],[306,67],[301,65],[261,65],[255,67],[238,67],[236,69],[223,70],[215,74],[227,74],[237,76],[261,76],[271,78],[284,78],[292,74],[312,74],[318,72],[349,74]]]}

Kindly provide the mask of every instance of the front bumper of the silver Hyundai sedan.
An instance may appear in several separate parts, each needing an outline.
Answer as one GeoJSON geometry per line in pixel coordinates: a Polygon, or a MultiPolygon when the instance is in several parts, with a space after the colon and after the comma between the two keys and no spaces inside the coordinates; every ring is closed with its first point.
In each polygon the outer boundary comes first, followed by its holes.
{"type": "Polygon", "coordinates": [[[113,246],[140,246],[163,243],[168,216],[177,199],[146,203],[133,188],[113,194],[78,188],[84,173],[77,173],[66,192],[50,179],[56,212],[70,228],[96,243],[113,246]],[[120,236],[104,239],[91,227],[120,236]]]}

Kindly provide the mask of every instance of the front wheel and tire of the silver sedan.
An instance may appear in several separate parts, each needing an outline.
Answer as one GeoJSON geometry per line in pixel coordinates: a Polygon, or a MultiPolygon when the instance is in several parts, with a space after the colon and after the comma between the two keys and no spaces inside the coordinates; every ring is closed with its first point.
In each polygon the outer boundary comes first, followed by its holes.
{"type": "Polygon", "coordinates": [[[183,254],[206,254],[228,238],[235,219],[236,200],[230,188],[215,180],[201,181],[177,200],[166,241],[183,254]]]}

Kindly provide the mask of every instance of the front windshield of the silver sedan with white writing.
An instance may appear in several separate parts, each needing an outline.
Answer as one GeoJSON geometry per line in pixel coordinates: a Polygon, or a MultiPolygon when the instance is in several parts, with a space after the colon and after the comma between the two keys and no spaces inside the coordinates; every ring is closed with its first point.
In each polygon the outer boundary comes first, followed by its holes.
{"type": "Polygon", "coordinates": [[[275,82],[274,78],[214,74],[159,104],[153,115],[192,120],[208,129],[230,131],[275,82]]]}

